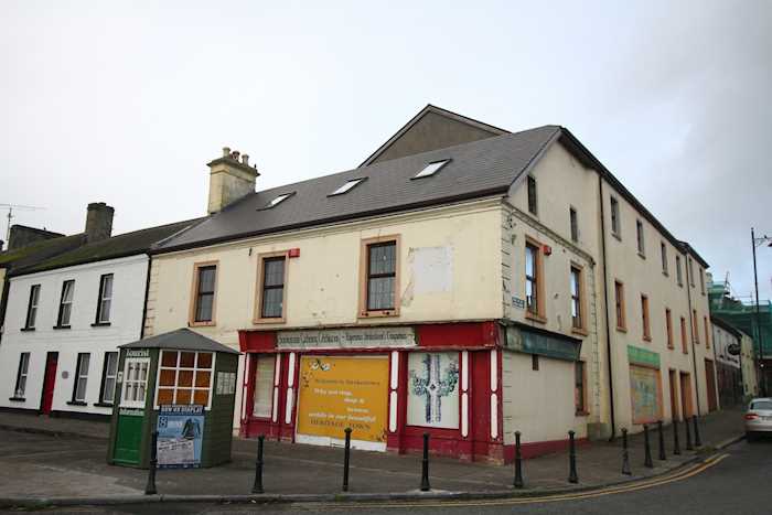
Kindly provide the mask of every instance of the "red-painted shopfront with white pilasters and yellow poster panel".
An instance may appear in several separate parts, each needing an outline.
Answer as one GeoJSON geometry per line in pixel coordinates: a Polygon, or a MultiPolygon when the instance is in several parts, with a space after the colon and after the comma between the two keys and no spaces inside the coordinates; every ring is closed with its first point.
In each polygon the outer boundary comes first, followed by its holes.
{"type": "Polygon", "coordinates": [[[239,332],[243,436],[503,457],[495,322],[239,332]]]}

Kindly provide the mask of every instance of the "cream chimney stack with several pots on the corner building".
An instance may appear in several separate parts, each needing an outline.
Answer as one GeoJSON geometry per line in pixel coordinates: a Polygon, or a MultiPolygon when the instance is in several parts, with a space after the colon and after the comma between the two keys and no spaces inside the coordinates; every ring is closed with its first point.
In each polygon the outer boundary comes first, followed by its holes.
{"type": "Polygon", "coordinates": [[[226,205],[255,193],[255,182],[259,173],[257,167],[249,165],[249,155],[238,150],[223,148],[223,155],[207,163],[210,167],[210,199],[207,212],[217,213],[226,205]],[[240,157],[240,160],[239,160],[240,157]]]}

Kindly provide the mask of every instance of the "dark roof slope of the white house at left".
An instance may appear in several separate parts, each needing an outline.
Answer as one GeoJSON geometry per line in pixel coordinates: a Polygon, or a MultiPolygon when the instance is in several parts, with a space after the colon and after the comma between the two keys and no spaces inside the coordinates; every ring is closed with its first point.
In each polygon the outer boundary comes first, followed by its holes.
{"type": "MultiPolygon", "coordinates": [[[[64,254],[58,254],[50,259],[39,259],[35,262],[24,267],[15,267],[13,275],[21,276],[44,270],[53,270],[55,268],[71,267],[86,262],[103,261],[106,259],[116,259],[143,254],[147,253],[154,243],[161,242],[179,233],[185,227],[195,224],[200,219],[202,218],[187,219],[184,222],[176,222],[158,227],[119,234],[117,236],[112,236],[111,238],[86,244],[64,254]]],[[[56,242],[56,239],[49,242],[56,242]]]]}

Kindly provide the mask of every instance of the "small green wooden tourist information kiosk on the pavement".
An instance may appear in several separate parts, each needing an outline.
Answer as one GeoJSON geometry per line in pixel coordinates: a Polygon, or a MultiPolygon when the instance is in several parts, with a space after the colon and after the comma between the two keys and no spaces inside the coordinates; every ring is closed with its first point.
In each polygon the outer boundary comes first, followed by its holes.
{"type": "Polygon", "coordinates": [[[230,461],[238,352],[189,329],[121,345],[110,464],[159,468],[230,461]]]}

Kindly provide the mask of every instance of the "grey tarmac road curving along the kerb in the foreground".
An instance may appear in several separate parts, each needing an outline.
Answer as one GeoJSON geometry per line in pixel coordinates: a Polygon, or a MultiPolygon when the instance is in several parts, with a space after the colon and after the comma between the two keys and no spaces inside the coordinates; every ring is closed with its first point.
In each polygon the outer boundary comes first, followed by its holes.
{"type": "Polygon", "coordinates": [[[110,514],[233,514],[233,513],[325,513],[334,515],[394,514],[764,514],[772,513],[772,441],[749,444],[744,441],[728,448],[712,464],[689,473],[656,481],[655,485],[630,485],[618,492],[601,491],[575,494],[567,500],[502,500],[469,502],[428,502],[425,504],[395,502],[376,505],[204,505],[151,504],[133,506],[79,507],[68,511],[46,509],[45,513],[110,513],[110,514]]]}

